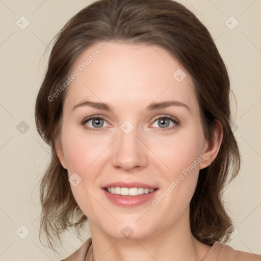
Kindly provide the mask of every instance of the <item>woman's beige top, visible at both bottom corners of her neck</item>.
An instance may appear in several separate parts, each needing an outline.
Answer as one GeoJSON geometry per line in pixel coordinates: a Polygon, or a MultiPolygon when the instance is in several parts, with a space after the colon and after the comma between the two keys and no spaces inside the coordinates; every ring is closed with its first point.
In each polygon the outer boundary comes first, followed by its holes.
{"type": "MultiPolygon", "coordinates": [[[[232,247],[215,241],[202,261],[260,261],[261,255],[251,254],[234,250],[232,247]]],[[[67,258],[61,261],[92,261],[92,239],[89,238],[85,243],[67,258]],[[87,258],[86,258],[86,252],[87,258]]]]}

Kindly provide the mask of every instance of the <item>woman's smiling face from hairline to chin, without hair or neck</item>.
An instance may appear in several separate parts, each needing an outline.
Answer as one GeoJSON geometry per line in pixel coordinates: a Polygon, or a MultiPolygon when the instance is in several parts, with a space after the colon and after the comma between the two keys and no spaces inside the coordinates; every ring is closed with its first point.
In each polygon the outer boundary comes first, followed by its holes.
{"type": "Polygon", "coordinates": [[[175,58],[104,44],[74,64],[57,151],[92,228],[146,238],[188,222],[207,142],[191,76],[175,58]]]}

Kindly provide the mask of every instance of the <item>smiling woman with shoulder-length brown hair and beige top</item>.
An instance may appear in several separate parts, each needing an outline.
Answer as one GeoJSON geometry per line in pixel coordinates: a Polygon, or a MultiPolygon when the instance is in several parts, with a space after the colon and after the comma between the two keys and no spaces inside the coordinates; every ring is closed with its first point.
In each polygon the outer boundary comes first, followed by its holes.
{"type": "Polygon", "coordinates": [[[239,172],[229,77],[204,25],[171,0],[101,0],[58,34],[36,101],[52,148],[41,227],[64,260],[256,260],[224,245],[239,172]]]}

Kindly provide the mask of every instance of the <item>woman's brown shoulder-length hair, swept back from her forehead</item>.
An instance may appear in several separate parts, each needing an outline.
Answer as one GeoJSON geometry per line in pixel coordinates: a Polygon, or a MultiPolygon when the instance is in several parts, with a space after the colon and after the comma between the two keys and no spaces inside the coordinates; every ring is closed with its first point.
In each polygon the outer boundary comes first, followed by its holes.
{"type": "Polygon", "coordinates": [[[48,97],[66,81],[84,50],[110,40],[165,48],[192,76],[205,138],[211,141],[217,120],[222,124],[223,140],[218,155],[210,166],[199,171],[190,202],[190,223],[193,236],[200,242],[207,245],[214,240],[227,242],[225,230],[231,219],[225,211],[222,193],[229,173],[230,182],[239,172],[240,152],[230,127],[228,73],[205,26],[191,11],[171,0],[100,0],[74,15],[54,39],[35,107],[37,131],[52,149],[40,184],[40,234],[43,230],[48,245],[54,249],[56,239],[61,243],[60,236],[68,228],[75,229],[77,237],[80,236],[87,221],[73,197],[67,170],[60,164],[55,149],[68,88],[53,101],[48,97]]]}

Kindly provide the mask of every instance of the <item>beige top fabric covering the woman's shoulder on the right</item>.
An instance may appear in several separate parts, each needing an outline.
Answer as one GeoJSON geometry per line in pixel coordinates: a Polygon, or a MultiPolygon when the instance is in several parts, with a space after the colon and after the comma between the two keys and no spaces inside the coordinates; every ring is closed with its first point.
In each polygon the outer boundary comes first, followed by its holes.
{"type": "MultiPolygon", "coordinates": [[[[203,260],[209,261],[257,261],[261,260],[261,255],[235,250],[232,247],[215,242],[210,252],[203,260]]],[[[202,261],[203,261],[202,260],[202,261]]]]}

